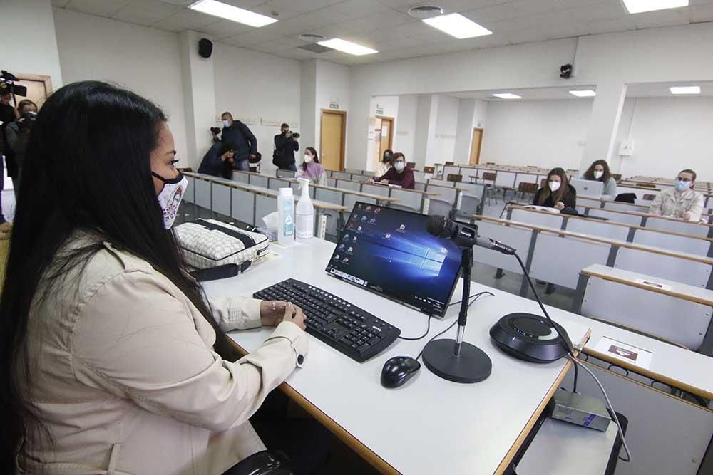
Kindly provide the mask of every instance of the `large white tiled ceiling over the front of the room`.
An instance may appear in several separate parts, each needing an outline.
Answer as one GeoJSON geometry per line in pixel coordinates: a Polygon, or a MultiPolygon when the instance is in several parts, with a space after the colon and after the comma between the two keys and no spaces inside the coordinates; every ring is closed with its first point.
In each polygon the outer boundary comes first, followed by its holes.
{"type": "Polygon", "coordinates": [[[458,40],[406,11],[419,0],[222,0],[276,16],[275,24],[252,28],[190,11],[195,0],[52,0],[59,8],[106,16],[167,31],[200,31],[220,43],[284,58],[324,58],[348,65],[414,58],[490,46],[530,43],[713,21],[713,0],[691,0],[691,6],[627,14],[621,0],[433,0],[446,13],[458,11],[493,31],[492,35],[458,40]],[[351,56],[339,51],[317,54],[298,49],[307,42],[300,33],[339,36],[375,48],[379,53],[351,56]]]}

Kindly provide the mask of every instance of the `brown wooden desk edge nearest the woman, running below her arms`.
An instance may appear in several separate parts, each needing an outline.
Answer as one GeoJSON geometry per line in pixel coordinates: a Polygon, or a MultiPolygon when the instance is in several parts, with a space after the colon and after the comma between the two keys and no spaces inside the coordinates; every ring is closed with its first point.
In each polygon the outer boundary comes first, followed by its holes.
{"type": "MultiPolygon", "coordinates": [[[[230,338],[230,335],[228,335],[228,340],[230,340],[230,343],[235,346],[235,348],[240,354],[247,355],[248,352],[245,351],[245,349],[242,348],[242,346],[240,346],[235,340],[230,338]]],[[[302,409],[304,409],[309,415],[314,417],[314,419],[317,419],[320,424],[322,424],[324,427],[327,427],[327,429],[329,429],[329,432],[332,432],[335,437],[344,442],[344,444],[346,444],[347,447],[355,451],[356,454],[359,454],[362,459],[369,462],[371,466],[379,470],[381,474],[401,475],[400,471],[394,469],[394,467],[391,466],[387,461],[376,455],[374,451],[369,449],[369,447],[366,447],[366,445],[359,441],[359,439],[356,439],[356,437],[350,434],[347,429],[344,429],[344,427],[340,426],[337,422],[335,422],[334,419],[329,417],[327,414],[324,414],[324,412],[322,412],[319,407],[312,404],[312,402],[310,402],[306,397],[302,396],[299,392],[297,392],[297,390],[294,389],[294,387],[287,384],[287,382],[282,382],[282,384],[278,386],[278,389],[284,392],[287,397],[296,402],[299,407],[302,407],[302,409]]]]}

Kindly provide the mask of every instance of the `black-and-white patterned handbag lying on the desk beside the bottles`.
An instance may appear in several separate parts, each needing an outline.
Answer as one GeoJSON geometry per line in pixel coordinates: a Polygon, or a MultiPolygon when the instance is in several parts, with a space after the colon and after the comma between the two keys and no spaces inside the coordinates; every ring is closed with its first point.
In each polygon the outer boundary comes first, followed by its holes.
{"type": "Polygon", "coordinates": [[[265,234],[239,229],[215,219],[196,219],[175,227],[186,263],[197,269],[236,264],[245,271],[270,253],[265,234]]]}

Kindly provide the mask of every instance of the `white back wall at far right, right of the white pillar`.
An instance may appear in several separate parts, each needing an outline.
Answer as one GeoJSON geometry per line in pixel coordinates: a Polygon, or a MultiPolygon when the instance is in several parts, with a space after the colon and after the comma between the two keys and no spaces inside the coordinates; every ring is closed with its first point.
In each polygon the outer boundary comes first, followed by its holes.
{"type": "Polygon", "coordinates": [[[634,155],[621,159],[625,177],[672,178],[691,168],[699,179],[713,180],[712,97],[627,99],[618,137],[626,137],[630,125],[635,148],[634,155]]]}

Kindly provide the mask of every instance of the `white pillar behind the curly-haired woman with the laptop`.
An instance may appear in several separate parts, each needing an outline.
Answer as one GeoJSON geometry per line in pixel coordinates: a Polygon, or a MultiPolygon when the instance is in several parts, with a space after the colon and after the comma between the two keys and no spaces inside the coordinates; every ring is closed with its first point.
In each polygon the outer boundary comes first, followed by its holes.
{"type": "Polygon", "coordinates": [[[597,84],[597,96],[592,105],[587,144],[582,155],[580,171],[588,169],[595,160],[611,159],[626,90],[627,85],[622,80],[597,84]]]}

